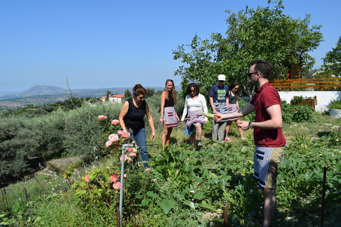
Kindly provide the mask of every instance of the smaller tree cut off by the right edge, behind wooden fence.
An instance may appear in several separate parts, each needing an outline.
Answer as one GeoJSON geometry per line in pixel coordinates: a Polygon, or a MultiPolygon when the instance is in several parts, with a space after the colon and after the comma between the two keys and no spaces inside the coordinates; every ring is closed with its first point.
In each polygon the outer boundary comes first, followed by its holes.
{"type": "Polygon", "coordinates": [[[336,76],[341,75],[341,36],[336,43],[336,47],[328,51],[323,57],[323,66],[325,71],[329,71],[336,76]]]}

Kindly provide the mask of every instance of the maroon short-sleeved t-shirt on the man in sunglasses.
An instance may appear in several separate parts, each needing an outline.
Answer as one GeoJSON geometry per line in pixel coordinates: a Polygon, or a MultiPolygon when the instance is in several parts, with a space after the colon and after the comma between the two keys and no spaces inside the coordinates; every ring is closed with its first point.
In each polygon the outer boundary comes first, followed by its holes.
{"type": "MultiPolygon", "coordinates": [[[[270,119],[266,111],[266,107],[268,106],[279,104],[282,110],[281,98],[270,82],[266,82],[259,87],[250,104],[254,105],[256,109],[255,122],[263,122],[270,119]]],[[[254,128],[254,144],[260,147],[282,147],[286,145],[286,138],[284,138],[282,128],[271,130],[254,128]]]]}

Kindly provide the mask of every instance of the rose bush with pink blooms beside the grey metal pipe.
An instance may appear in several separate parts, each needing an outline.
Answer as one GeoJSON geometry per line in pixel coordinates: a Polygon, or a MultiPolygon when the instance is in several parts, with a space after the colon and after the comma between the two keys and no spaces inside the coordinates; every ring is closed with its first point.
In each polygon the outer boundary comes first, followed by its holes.
{"type": "MultiPolygon", "coordinates": [[[[119,131],[119,120],[114,119],[109,121],[107,116],[98,116],[99,123],[103,127],[103,137],[108,140],[105,145],[102,145],[103,154],[106,155],[106,160],[110,160],[111,165],[107,168],[94,168],[87,172],[85,177],[82,177],[79,183],[73,184],[76,196],[80,197],[80,201],[88,204],[90,202],[98,206],[111,206],[119,201],[119,190],[121,188],[121,146],[124,143],[131,142],[130,134],[124,131],[119,131]],[[117,133],[112,133],[117,131],[117,133]]],[[[99,143],[103,143],[99,141],[99,143]]],[[[124,162],[131,162],[137,157],[137,149],[126,148],[124,162]]],[[[126,177],[126,173],[123,173],[126,177]]],[[[70,175],[65,175],[65,178],[70,175]]],[[[124,187],[126,190],[126,187],[124,187]]]]}

